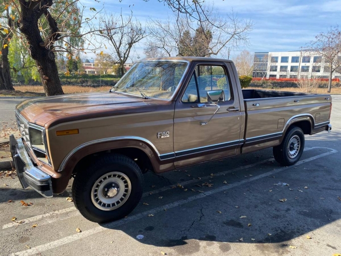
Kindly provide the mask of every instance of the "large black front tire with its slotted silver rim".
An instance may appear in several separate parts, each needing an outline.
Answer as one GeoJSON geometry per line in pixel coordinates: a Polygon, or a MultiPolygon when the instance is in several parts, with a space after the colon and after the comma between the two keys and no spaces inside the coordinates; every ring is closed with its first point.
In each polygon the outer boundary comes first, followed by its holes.
{"type": "Polygon", "coordinates": [[[141,199],[142,190],[143,175],[133,160],[122,155],[105,155],[77,173],[72,185],[72,197],[76,208],[86,219],[103,223],[127,216],[141,199]],[[121,202],[106,204],[100,198],[105,202],[121,202]]]}

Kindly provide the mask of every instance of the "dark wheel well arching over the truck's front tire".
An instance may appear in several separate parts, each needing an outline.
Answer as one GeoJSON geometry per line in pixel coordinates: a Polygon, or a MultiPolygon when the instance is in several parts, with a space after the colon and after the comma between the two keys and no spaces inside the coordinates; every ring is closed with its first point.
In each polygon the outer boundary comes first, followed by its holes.
{"type": "Polygon", "coordinates": [[[118,154],[126,156],[132,159],[138,167],[141,169],[142,173],[146,173],[148,170],[154,171],[153,166],[148,158],[147,154],[145,154],[142,150],[137,148],[122,148],[122,149],[114,149],[114,150],[106,150],[97,152],[88,156],[83,157],[75,166],[72,171],[72,174],[76,174],[80,170],[84,169],[94,160],[100,158],[103,155],[108,154],[118,154]]]}

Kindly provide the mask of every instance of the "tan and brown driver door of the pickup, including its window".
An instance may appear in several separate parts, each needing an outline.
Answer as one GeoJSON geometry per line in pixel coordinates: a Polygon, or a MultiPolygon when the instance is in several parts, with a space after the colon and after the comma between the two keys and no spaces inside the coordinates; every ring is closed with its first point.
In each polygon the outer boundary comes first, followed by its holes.
{"type": "Polygon", "coordinates": [[[240,144],[241,113],[227,68],[197,65],[186,90],[178,98],[174,117],[175,167],[191,165],[236,154],[240,144]],[[225,92],[225,101],[207,123],[217,106],[208,105],[207,91],[225,92]]]}

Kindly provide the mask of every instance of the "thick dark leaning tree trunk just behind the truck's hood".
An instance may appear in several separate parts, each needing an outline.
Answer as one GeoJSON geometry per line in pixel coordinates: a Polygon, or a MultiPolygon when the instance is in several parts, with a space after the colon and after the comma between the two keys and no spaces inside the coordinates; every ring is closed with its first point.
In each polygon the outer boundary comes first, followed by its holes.
{"type": "MultiPolygon", "coordinates": [[[[42,7],[44,5],[48,5],[48,3],[35,3],[33,1],[22,2],[22,20],[19,24],[19,30],[25,35],[30,45],[29,52],[31,57],[36,61],[46,96],[53,96],[64,94],[64,92],[58,76],[55,54],[52,51],[53,45],[50,45],[49,48],[45,47],[45,42],[40,35],[38,27],[39,18],[44,12],[47,12],[47,7],[45,9],[42,7]]],[[[51,25],[50,33],[53,34],[51,25]]]]}

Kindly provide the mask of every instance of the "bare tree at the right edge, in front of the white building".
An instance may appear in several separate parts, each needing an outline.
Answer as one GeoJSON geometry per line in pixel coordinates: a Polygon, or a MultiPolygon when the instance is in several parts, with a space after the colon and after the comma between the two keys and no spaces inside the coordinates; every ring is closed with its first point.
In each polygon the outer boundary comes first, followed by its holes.
{"type": "Polygon", "coordinates": [[[326,33],[319,33],[314,41],[303,48],[306,52],[313,52],[323,58],[324,63],[330,68],[328,93],[331,91],[332,73],[341,66],[341,32],[338,26],[330,28],[326,33]]]}

